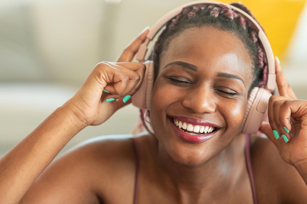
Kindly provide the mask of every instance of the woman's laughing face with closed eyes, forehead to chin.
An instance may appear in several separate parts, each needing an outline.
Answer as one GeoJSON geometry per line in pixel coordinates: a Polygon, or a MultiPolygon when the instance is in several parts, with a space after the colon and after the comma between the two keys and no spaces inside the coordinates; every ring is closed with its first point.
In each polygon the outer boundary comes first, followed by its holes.
{"type": "Polygon", "coordinates": [[[160,57],[151,122],[176,161],[200,164],[240,132],[252,82],[252,59],[234,34],[212,26],[177,35],[160,57]]]}

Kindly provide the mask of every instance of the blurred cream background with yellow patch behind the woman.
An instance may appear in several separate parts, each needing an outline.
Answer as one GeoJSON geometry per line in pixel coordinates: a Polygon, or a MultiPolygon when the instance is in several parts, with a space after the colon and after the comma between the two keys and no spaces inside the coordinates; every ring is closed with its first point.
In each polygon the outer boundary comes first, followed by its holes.
{"type": "MultiPolygon", "coordinates": [[[[0,155],[29,134],[82,85],[101,61],[171,9],[191,0],[0,0],[0,155]]],[[[223,2],[229,2],[222,0],[223,2]]],[[[307,99],[306,0],[241,0],[264,27],[297,96],[307,99]]],[[[126,134],[128,105],[66,146],[126,134]]]]}

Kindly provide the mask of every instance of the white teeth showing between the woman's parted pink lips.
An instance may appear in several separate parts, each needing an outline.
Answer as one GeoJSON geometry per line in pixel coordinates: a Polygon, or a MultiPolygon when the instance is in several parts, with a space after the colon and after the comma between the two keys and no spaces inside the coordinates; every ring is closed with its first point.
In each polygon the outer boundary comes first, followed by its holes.
{"type": "Polygon", "coordinates": [[[173,118],[172,121],[179,128],[179,130],[190,135],[207,135],[217,131],[217,128],[212,126],[192,125],[175,118],[173,118]]]}

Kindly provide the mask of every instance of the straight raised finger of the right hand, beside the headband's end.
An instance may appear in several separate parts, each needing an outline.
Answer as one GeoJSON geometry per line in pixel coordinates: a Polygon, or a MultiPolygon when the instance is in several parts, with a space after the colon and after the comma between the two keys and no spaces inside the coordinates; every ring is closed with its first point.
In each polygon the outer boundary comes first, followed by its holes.
{"type": "Polygon", "coordinates": [[[285,77],[282,69],[281,64],[279,61],[275,58],[275,71],[276,71],[276,83],[277,88],[281,96],[285,96],[288,98],[296,99],[296,95],[294,91],[291,89],[287,78],[285,77]]]}

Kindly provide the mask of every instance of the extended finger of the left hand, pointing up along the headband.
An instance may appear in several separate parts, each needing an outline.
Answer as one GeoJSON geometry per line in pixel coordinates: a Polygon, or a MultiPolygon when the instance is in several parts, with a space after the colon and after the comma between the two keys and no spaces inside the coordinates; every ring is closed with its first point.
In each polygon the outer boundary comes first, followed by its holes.
{"type": "Polygon", "coordinates": [[[146,27],[123,51],[117,62],[131,62],[140,45],[145,41],[149,28],[146,27]]]}

